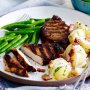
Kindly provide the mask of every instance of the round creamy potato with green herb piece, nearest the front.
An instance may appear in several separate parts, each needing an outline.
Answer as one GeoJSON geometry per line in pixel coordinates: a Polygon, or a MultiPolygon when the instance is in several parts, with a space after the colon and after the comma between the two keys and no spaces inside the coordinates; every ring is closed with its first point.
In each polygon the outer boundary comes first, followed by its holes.
{"type": "Polygon", "coordinates": [[[68,78],[71,73],[71,64],[63,58],[52,60],[48,67],[50,76],[55,80],[68,78]]]}

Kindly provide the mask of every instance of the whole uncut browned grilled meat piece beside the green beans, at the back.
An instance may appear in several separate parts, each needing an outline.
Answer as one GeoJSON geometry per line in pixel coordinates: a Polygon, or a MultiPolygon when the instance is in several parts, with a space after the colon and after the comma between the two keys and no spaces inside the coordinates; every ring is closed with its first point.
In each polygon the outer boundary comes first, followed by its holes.
{"type": "Polygon", "coordinates": [[[63,48],[69,44],[69,26],[55,15],[42,26],[40,35],[43,43],[57,42],[63,48]]]}

